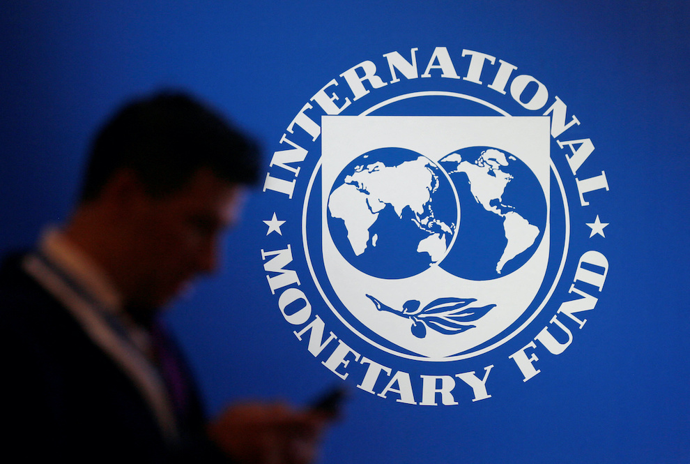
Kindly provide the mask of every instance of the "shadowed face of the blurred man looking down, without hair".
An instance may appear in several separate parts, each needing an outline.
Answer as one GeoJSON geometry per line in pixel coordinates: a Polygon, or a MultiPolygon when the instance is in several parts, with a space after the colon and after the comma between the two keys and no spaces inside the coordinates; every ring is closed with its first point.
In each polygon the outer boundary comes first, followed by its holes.
{"type": "Polygon", "coordinates": [[[149,195],[137,184],[128,202],[130,258],[136,276],[130,303],[159,308],[198,274],[217,269],[222,232],[235,222],[242,193],[240,186],[206,168],[162,197],[149,195]]]}

